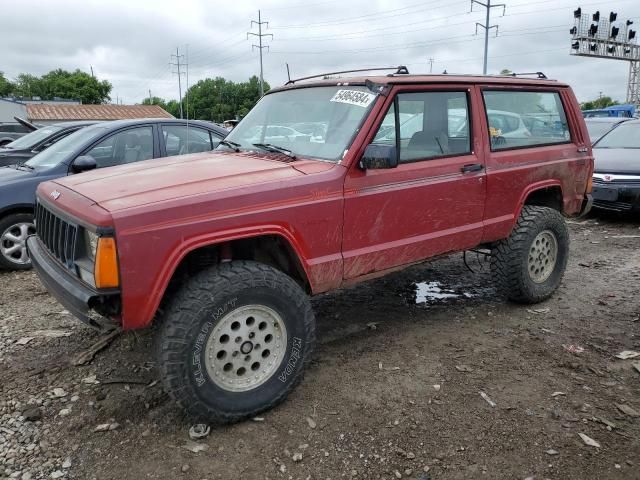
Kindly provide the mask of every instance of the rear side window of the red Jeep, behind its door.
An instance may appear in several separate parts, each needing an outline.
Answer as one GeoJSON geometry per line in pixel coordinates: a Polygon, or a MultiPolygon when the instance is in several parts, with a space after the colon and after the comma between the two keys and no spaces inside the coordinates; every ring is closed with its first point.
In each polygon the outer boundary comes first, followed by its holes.
{"type": "Polygon", "coordinates": [[[567,116],[558,92],[484,90],[492,150],[566,143],[567,116]]]}

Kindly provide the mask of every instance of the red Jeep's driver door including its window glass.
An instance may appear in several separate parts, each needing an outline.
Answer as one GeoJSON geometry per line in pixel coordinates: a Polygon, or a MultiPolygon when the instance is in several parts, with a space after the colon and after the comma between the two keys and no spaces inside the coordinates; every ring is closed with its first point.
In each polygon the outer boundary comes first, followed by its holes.
{"type": "Polygon", "coordinates": [[[482,123],[477,92],[399,88],[372,142],[395,143],[398,167],[354,164],[345,180],[346,280],[480,243],[486,181],[474,141],[482,123]]]}

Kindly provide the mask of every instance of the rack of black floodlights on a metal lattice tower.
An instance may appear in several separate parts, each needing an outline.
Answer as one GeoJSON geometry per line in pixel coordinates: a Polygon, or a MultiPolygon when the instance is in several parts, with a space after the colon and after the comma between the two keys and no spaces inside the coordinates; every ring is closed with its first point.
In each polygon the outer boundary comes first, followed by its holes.
{"type": "Polygon", "coordinates": [[[600,17],[583,14],[582,8],[573,12],[574,25],[571,34],[571,55],[581,57],[609,58],[629,62],[627,103],[640,105],[640,45],[636,43],[633,22],[617,22],[618,14],[600,17]]]}

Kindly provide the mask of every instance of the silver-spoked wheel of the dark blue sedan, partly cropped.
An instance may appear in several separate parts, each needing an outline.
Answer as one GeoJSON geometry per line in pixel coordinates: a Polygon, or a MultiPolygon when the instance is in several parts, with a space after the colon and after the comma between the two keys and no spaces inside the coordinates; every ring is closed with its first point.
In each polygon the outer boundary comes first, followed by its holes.
{"type": "Polygon", "coordinates": [[[35,233],[30,213],[15,213],[0,220],[0,267],[11,270],[31,268],[27,237],[35,233]]]}

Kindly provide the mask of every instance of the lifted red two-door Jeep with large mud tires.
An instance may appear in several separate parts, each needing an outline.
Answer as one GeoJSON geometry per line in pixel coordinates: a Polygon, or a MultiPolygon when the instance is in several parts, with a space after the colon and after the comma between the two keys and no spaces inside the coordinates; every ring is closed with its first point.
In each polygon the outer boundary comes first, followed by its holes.
{"type": "Polygon", "coordinates": [[[505,297],[549,297],[592,170],[576,99],[555,81],[304,79],[265,95],[216,152],[40,185],[28,247],[81,320],[158,322],[168,393],[234,421],[301,380],[309,295],[483,246],[505,297]]]}

